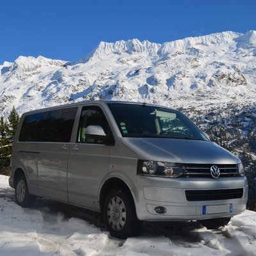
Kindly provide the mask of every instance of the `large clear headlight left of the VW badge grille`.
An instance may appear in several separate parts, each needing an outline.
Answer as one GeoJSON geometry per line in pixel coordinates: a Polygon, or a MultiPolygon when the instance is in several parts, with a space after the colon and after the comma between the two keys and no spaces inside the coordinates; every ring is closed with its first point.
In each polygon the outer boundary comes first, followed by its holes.
{"type": "Polygon", "coordinates": [[[138,160],[138,175],[177,178],[182,175],[179,164],[138,160]]]}

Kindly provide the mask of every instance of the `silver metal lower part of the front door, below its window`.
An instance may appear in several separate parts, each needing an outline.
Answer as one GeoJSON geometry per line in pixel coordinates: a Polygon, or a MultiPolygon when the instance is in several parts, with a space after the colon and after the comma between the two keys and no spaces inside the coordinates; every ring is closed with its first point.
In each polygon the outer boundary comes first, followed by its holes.
{"type": "Polygon", "coordinates": [[[108,169],[109,146],[72,143],[68,161],[68,199],[94,209],[102,177],[108,169]]]}

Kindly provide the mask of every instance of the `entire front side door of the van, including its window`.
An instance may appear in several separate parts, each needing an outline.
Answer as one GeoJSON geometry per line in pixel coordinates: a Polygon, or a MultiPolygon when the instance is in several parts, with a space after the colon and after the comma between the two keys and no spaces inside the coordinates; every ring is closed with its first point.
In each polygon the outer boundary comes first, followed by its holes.
{"type": "Polygon", "coordinates": [[[83,107],[76,143],[70,145],[68,200],[72,204],[98,209],[99,186],[107,172],[110,146],[100,140],[86,138],[88,125],[100,125],[106,134],[111,132],[99,106],[83,107]]]}

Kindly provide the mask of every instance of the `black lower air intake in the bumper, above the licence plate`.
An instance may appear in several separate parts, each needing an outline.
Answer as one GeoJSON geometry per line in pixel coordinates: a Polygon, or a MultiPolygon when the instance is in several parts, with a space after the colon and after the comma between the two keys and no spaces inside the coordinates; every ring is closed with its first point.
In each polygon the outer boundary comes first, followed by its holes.
{"type": "Polygon", "coordinates": [[[228,200],[242,198],[243,188],[186,190],[185,193],[188,201],[228,200]]]}

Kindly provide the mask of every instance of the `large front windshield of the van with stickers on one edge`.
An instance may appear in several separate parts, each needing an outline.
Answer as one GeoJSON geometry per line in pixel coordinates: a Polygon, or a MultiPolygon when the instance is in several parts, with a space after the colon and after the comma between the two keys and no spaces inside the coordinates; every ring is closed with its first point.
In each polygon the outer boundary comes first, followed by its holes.
{"type": "Polygon", "coordinates": [[[123,137],[208,140],[180,111],[143,104],[108,106],[123,137]]]}

